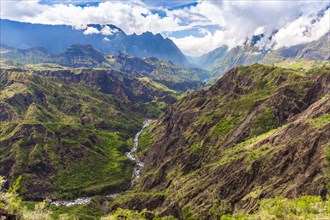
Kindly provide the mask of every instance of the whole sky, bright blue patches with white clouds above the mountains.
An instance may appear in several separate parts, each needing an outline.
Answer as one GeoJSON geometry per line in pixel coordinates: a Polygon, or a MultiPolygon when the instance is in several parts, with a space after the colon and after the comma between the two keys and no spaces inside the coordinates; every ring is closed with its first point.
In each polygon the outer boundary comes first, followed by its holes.
{"type": "MultiPolygon", "coordinates": [[[[265,37],[260,49],[307,43],[330,31],[329,0],[0,0],[0,17],[15,21],[113,24],[127,34],[168,37],[189,56],[265,37]]],[[[95,33],[97,34],[97,33],[95,33]]]]}

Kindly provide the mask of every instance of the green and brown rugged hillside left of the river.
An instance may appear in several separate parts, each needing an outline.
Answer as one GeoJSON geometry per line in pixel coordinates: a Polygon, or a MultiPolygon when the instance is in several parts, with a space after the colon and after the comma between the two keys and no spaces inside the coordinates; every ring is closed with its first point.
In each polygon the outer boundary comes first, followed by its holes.
{"type": "MultiPolygon", "coordinates": [[[[145,118],[175,101],[116,70],[1,69],[0,175],[24,199],[108,194],[131,184],[124,154],[145,118]]],[[[165,88],[165,87],[164,87],[165,88]]]]}

